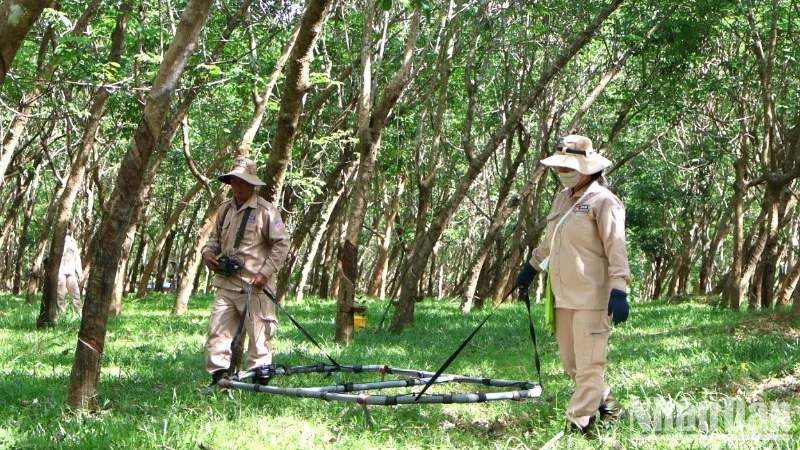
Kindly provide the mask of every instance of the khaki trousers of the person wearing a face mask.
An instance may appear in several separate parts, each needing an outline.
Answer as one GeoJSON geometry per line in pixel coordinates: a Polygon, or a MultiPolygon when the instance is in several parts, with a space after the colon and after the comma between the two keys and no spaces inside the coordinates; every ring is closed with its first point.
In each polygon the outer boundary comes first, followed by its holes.
{"type": "Polygon", "coordinates": [[[556,339],[564,371],[575,382],[567,419],[586,426],[608,395],[605,384],[608,335],[606,310],[556,308],[556,339]]]}

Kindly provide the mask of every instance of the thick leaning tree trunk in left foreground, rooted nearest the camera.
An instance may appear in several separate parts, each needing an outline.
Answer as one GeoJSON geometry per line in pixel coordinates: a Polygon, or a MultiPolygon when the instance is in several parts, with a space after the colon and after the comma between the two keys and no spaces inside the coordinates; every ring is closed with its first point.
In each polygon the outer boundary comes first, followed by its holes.
{"type": "Polygon", "coordinates": [[[157,160],[153,156],[158,136],[210,7],[209,0],[191,0],[187,4],[175,38],[164,54],[156,79],[147,95],[131,147],[121,162],[109,213],[98,231],[94,259],[102,264],[92,266],[84,298],[83,320],[67,393],[67,404],[73,408],[94,409],[98,405],[100,362],[105,347],[117,268],[127,233],[142,209],[144,199],[141,195],[147,191],[142,175],[153,173],[158,168],[157,165],[151,165],[154,159],[157,160]]]}

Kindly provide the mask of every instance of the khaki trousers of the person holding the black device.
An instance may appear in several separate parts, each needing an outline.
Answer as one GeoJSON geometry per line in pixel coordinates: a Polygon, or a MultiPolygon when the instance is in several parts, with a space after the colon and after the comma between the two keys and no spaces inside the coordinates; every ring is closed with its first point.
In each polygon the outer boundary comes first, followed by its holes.
{"type": "MultiPolygon", "coordinates": [[[[230,367],[231,343],[239,328],[246,302],[247,293],[217,289],[206,341],[206,369],[209,373],[230,367]]],[[[278,321],[275,319],[275,304],[266,294],[253,292],[244,329],[249,338],[247,370],[271,364],[272,338],[278,329],[278,321]]]]}

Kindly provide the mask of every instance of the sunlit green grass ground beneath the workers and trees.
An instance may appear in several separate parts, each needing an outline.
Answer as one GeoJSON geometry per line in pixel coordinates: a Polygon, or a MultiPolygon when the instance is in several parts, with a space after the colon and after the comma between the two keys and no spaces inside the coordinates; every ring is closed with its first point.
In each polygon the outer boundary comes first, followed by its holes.
{"type": "MultiPolygon", "coordinates": [[[[69,411],[65,398],[79,323],[35,330],[38,305],[0,296],[0,448],[80,449],[532,449],[564,428],[572,386],[556,343],[540,334],[540,399],[462,405],[369,407],[232,391],[202,395],[203,343],[211,297],[182,317],[172,298],[127,299],[112,319],[103,360],[102,410],[69,411]]],[[[308,300],[287,311],[342,364],[436,371],[487,314],[424,301],[403,333],[376,331],[383,303],[368,302],[368,329],[349,346],[332,342],[334,304],[308,300]]],[[[534,314],[541,317],[537,307],[534,314]]],[[[500,308],[448,373],[536,380],[524,305],[500,308]]],[[[324,357],[282,317],[275,362],[324,357]]],[[[568,434],[556,448],[800,448],[800,323],[784,312],[735,313],[700,302],[634,304],[614,330],[608,381],[637,414],[588,440],[568,434]],[[674,409],[671,409],[674,408],[674,409]],[[719,421],[697,411],[717,408],[719,421]],[[726,415],[727,414],[727,415],[726,415]],[[701,428],[701,429],[699,429],[701,428]],[[772,436],[775,439],[770,440],[772,436]]],[[[377,381],[376,375],[292,375],[279,386],[377,381]]],[[[412,388],[403,392],[413,392],[412,388]]],[[[464,393],[472,386],[442,385],[464,393]]],[[[375,394],[383,394],[375,392],[375,394]]]]}

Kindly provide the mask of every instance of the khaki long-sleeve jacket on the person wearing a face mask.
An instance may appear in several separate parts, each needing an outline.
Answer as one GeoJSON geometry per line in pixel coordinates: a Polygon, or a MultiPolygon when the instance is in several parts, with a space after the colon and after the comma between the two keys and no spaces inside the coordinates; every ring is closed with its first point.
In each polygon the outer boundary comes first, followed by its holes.
{"type": "Polygon", "coordinates": [[[625,208],[616,195],[596,182],[571,191],[564,189],[553,200],[545,237],[534,249],[530,263],[541,271],[542,261],[549,256],[556,308],[606,309],[611,289],[627,292],[631,279],[625,208]],[[570,210],[553,236],[556,224],[570,210]]]}

